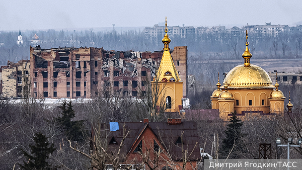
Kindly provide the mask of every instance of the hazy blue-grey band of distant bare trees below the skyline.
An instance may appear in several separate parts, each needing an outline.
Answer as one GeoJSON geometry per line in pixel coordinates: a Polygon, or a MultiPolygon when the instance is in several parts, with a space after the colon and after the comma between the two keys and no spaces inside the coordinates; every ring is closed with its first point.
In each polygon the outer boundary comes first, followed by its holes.
{"type": "MultiPolygon", "coordinates": [[[[22,31],[24,44],[17,45],[19,32],[0,32],[0,64],[7,60],[17,61],[29,57],[29,45],[37,34],[41,48],[53,47],[104,47],[116,51],[159,51],[162,50],[163,36],[147,39],[143,31],[22,31]]],[[[194,59],[209,59],[222,55],[224,59],[237,59],[245,49],[245,32],[201,33],[170,37],[170,47],[188,46],[189,56],[194,59]]],[[[252,53],[258,58],[299,58],[302,50],[302,33],[281,32],[276,37],[261,33],[249,33],[252,53]]],[[[190,58],[189,58],[190,59],[190,58]]]]}

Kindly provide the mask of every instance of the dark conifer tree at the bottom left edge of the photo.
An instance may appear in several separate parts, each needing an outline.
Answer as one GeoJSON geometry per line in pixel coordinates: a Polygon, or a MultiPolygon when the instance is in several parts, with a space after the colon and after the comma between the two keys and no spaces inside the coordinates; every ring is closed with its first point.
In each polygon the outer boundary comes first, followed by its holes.
{"type": "Polygon", "coordinates": [[[47,137],[42,133],[36,133],[34,137],[35,145],[29,145],[31,152],[27,153],[22,150],[26,161],[23,161],[23,165],[20,164],[22,169],[52,169],[51,165],[47,162],[49,155],[55,151],[53,143],[49,146],[47,137]]]}

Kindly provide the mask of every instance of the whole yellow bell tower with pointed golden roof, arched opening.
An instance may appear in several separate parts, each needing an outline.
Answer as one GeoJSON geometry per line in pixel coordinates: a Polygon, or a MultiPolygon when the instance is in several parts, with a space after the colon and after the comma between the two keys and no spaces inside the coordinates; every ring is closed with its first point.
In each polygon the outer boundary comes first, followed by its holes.
{"type": "Polygon", "coordinates": [[[159,94],[156,100],[157,106],[164,104],[166,112],[179,112],[179,107],[182,106],[183,81],[178,75],[170,54],[169,43],[171,39],[168,35],[167,17],[165,36],[162,42],[164,43],[164,52],[157,76],[152,81],[153,92],[157,91],[156,93],[159,94]]]}

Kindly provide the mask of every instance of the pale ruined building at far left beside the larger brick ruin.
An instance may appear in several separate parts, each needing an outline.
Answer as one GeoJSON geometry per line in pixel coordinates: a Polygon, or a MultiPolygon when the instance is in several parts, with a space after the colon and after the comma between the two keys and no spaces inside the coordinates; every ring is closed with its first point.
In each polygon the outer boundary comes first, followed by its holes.
{"type": "Polygon", "coordinates": [[[4,98],[24,97],[29,94],[30,62],[21,60],[18,63],[8,61],[1,67],[1,92],[4,98]]]}

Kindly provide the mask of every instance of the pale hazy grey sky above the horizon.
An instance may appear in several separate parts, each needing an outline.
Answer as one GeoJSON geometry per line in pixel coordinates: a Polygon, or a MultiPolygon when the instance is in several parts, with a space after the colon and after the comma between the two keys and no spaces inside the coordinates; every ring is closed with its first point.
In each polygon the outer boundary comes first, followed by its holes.
{"type": "Polygon", "coordinates": [[[293,25],[301,0],[0,0],[0,30],[175,26],[293,25]]]}

